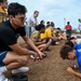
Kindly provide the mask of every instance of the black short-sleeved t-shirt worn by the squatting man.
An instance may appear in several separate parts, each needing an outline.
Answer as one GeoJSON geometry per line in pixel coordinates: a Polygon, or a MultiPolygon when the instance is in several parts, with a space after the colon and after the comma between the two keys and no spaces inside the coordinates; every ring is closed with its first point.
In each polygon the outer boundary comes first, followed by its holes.
{"type": "Polygon", "coordinates": [[[0,24],[0,51],[12,51],[9,45],[16,44],[16,35],[26,36],[24,27],[14,29],[10,21],[0,24]]]}

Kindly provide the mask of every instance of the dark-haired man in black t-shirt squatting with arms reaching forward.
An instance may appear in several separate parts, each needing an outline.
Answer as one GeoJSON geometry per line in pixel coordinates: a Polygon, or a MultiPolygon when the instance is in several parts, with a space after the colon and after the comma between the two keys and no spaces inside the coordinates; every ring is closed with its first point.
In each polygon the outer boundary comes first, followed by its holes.
{"type": "Polygon", "coordinates": [[[27,55],[38,55],[42,58],[41,53],[31,40],[26,37],[24,23],[26,17],[26,8],[19,3],[10,3],[8,9],[9,21],[0,24],[0,81],[8,81],[3,72],[8,70],[22,70],[28,62],[27,55]],[[33,51],[22,48],[16,42],[16,35],[19,33],[25,42],[33,51]]]}

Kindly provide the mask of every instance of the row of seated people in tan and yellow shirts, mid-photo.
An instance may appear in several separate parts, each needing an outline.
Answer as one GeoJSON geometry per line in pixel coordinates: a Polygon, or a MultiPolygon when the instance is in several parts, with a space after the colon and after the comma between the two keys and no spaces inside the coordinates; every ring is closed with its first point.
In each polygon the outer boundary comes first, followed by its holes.
{"type": "Polygon", "coordinates": [[[30,39],[41,52],[51,51],[49,49],[50,45],[59,44],[60,40],[66,40],[66,33],[60,28],[54,28],[49,22],[45,26],[43,21],[41,21],[35,28],[36,30],[31,32],[30,39]]]}

